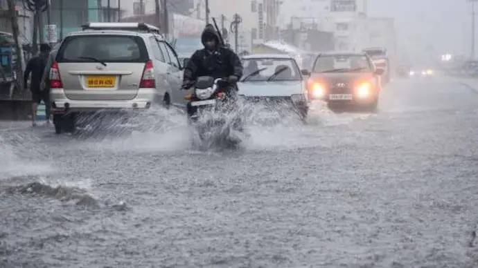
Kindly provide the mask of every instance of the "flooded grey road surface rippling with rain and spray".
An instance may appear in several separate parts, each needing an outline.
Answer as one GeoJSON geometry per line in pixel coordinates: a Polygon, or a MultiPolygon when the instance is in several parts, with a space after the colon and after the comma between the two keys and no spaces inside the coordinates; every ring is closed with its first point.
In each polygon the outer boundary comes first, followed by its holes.
{"type": "Polygon", "coordinates": [[[234,152],[194,151],[175,114],[121,137],[1,123],[0,267],[477,267],[477,116],[435,79],[234,152]]]}

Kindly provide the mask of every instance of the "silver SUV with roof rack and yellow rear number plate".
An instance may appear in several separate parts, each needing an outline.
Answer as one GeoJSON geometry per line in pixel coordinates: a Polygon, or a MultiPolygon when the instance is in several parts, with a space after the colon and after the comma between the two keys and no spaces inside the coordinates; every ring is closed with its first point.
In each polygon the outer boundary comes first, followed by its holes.
{"type": "Polygon", "coordinates": [[[168,106],[182,66],[159,29],[145,23],[89,23],[65,37],[50,69],[55,132],[78,115],[168,106]]]}

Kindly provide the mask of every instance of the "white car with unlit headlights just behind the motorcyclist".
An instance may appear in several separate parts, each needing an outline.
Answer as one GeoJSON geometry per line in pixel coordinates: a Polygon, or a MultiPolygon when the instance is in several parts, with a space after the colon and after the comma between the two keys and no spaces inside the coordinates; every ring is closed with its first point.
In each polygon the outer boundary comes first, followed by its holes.
{"type": "MultiPolygon", "coordinates": [[[[294,57],[285,54],[254,54],[242,57],[244,75],[239,93],[249,103],[296,111],[306,119],[309,111],[307,70],[300,70],[294,57]]],[[[280,111],[279,111],[280,112],[280,111]]]]}

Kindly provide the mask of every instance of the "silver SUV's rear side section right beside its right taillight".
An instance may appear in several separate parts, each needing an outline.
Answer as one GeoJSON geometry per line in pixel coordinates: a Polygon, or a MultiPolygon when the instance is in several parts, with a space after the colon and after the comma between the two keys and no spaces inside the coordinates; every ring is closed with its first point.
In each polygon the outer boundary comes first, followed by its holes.
{"type": "Polygon", "coordinates": [[[168,64],[166,64],[166,58],[163,51],[159,48],[156,37],[150,37],[150,45],[153,52],[154,71],[156,72],[156,89],[157,89],[157,102],[162,102],[164,95],[171,91],[171,86],[168,82],[168,64]]]}

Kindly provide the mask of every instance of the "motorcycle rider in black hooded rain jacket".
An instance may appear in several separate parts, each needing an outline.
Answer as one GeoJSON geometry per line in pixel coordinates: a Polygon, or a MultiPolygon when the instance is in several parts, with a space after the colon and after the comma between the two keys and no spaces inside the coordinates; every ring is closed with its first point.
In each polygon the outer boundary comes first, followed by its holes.
{"type": "Polygon", "coordinates": [[[236,82],[242,77],[243,69],[238,55],[222,46],[218,32],[212,24],[204,28],[201,41],[204,48],[196,50],[184,68],[182,88],[190,88],[191,83],[200,76],[227,77],[230,86],[224,91],[232,99],[236,98],[238,91],[236,82]]]}

